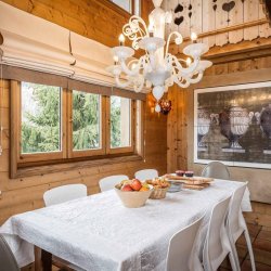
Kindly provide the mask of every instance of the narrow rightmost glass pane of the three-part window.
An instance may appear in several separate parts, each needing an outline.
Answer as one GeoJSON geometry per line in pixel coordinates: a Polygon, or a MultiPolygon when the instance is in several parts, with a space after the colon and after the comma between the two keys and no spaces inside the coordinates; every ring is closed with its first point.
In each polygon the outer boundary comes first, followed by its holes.
{"type": "Polygon", "coordinates": [[[131,100],[111,96],[111,147],[131,145],[131,100]]]}

